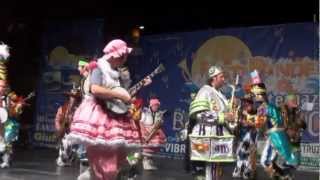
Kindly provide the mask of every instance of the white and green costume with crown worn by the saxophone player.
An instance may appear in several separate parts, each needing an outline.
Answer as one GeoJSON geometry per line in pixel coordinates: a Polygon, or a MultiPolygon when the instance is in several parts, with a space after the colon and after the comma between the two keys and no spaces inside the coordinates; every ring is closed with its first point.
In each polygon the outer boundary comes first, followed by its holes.
{"type": "MultiPolygon", "coordinates": [[[[218,67],[209,69],[209,77],[222,73],[218,67]]],[[[189,115],[196,120],[190,136],[191,160],[206,162],[206,179],[221,175],[219,162],[235,161],[234,136],[228,130],[224,115],[229,111],[226,97],[213,86],[204,85],[191,102],[189,115]]]]}

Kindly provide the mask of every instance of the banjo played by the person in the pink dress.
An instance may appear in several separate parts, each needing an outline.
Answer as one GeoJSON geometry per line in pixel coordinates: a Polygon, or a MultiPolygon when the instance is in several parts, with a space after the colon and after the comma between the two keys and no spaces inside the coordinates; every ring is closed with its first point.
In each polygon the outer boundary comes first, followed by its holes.
{"type": "MultiPolygon", "coordinates": [[[[152,73],[150,73],[147,77],[154,77],[155,75],[161,73],[162,71],[164,71],[165,68],[163,66],[163,64],[160,64],[152,73]]],[[[144,78],[144,79],[145,79],[144,78]]],[[[144,79],[139,81],[137,84],[135,84],[134,86],[132,86],[128,92],[131,96],[134,96],[145,84],[144,79]]],[[[124,88],[121,87],[115,87],[112,90],[114,91],[126,91],[124,88]]],[[[123,101],[121,101],[120,99],[112,99],[112,100],[108,100],[105,103],[106,108],[108,110],[110,110],[111,112],[115,113],[115,114],[126,114],[128,112],[128,110],[131,107],[131,104],[128,103],[124,103],[123,101]]]]}

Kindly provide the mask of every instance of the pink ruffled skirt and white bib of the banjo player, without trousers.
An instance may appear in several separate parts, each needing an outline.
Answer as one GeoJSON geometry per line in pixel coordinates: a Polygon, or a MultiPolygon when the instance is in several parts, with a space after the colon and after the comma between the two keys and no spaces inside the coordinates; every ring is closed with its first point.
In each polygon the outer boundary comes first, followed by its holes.
{"type": "MultiPolygon", "coordinates": [[[[105,87],[119,86],[117,72],[101,58],[98,67],[102,72],[105,87]]],[[[90,79],[90,78],[88,78],[90,79]]],[[[86,82],[90,83],[90,82],[86,82]]],[[[71,124],[70,139],[76,143],[110,146],[140,146],[138,129],[132,119],[125,115],[115,115],[104,107],[104,102],[87,94],[76,110],[71,124]]]]}

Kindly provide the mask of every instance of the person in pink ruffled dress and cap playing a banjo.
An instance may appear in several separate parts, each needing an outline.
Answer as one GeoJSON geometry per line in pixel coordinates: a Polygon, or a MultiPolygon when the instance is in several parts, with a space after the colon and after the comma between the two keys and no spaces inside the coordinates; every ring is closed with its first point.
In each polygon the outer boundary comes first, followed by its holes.
{"type": "Polygon", "coordinates": [[[139,133],[127,114],[112,111],[117,99],[130,103],[131,95],[120,87],[119,72],[132,51],[119,39],[106,45],[97,68],[90,74],[90,93],[76,110],[69,139],[87,146],[93,179],[113,180],[120,166],[126,163],[131,150],[141,146],[139,133]]]}

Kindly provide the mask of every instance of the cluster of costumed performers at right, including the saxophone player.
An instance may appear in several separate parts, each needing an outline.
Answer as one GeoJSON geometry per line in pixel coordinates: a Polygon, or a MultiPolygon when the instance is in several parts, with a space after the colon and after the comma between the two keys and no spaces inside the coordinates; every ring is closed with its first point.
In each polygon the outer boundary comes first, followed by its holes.
{"type": "MultiPolygon", "coordinates": [[[[259,73],[250,73],[251,82],[244,87],[242,98],[230,100],[221,93],[225,83],[221,67],[208,71],[208,84],[190,104],[189,164],[198,179],[220,179],[223,163],[235,162],[234,178],[256,177],[257,142],[266,140],[260,164],[270,178],[293,179],[300,162],[300,137],[306,128],[298,109],[297,96],[289,93],[277,107],[268,101],[267,87],[259,73]],[[224,148],[210,149],[224,145],[224,148]],[[226,153],[232,149],[234,156],[226,153]],[[219,155],[217,155],[219,154],[219,155]],[[201,172],[204,171],[204,172],[201,172]],[[203,174],[205,176],[203,176],[203,174]]],[[[235,88],[233,88],[235,89],[235,88]]]]}

